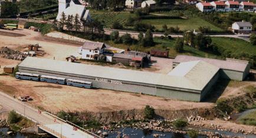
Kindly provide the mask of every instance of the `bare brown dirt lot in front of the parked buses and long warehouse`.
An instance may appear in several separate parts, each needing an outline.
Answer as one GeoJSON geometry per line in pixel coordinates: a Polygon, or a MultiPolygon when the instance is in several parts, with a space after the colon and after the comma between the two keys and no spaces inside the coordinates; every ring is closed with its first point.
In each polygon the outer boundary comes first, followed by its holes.
{"type": "Polygon", "coordinates": [[[192,109],[210,107],[212,103],[185,102],[164,99],[162,97],[137,95],[103,89],[82,89],[78,87],[55,85],[52,83],[18,80],[11,76],[0,77],[0,90],[9,95],[34,98],[33,106],[46,110],[87,110],[90,112],[107,112],[113,110],[142,109],[151,105],[156,109],[192,109]]]}

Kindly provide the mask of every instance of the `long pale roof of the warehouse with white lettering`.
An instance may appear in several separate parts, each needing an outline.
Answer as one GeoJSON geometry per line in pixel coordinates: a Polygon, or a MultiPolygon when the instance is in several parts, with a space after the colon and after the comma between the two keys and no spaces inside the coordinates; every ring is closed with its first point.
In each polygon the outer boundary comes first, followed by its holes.
{"type": "Polygon", "coordinates": [[[178,65],[169,75],[142,72],[137,70],[109,68],[105,66],[85,65],[60,60],[27,57],[19,67],[50,70],[96,78],[124,80],[128,82],[147,83],[177,87],[181,89],[202,90],[219,68],[203,61],[186,62],[178,65]]]}

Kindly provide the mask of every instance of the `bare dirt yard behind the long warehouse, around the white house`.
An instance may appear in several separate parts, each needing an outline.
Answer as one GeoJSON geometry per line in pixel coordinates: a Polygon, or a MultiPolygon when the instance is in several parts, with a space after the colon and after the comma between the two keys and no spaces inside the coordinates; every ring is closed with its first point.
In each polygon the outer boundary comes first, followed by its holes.
{"type": "MultiPolygon", "coordinates": [[[[78,46],[81,46],[81,42],[50,38],[48,36],[42,36],[40,33],[28,29],[1,31],[8,33],[9,35],[6,36],[0,32],[0,48],[2,46],[8,46],[8,48],[12,48],[15,50],[23,50],[24,47],[28,46],[29,44],[38,43],[40,46],[42,46],[41,50],[47,53],[44,58],[65,60],[65,58],[70,55],[74,55],[77,58],[80,57],[77,52],[77,48],[78,46]],[[22,34],[24,36],[15,37],[17,36],[17,34],[22,34]]],[[[172,69],[172,59],[152,57],[152,60],[155,61],[152,66],[143,70],[166,74],[172,69]]],[[[90,64],[101,65],[95,62],[91,62],[90,64]]],[[[116,68],[116,66],[112,67],[116,68]]]]}

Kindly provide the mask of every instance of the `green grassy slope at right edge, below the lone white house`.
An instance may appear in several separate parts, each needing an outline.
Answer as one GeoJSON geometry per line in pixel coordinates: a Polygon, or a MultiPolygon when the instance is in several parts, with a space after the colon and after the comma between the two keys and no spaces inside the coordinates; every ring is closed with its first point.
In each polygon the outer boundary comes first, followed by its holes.
{"type": "Polygon", "coordinates": [[[244,52],[250,55],[256,55],[256,46],[241,39],[212,37],[212,42],[216,43],[219,47],[231,51],[232,54],[244,52]]]}

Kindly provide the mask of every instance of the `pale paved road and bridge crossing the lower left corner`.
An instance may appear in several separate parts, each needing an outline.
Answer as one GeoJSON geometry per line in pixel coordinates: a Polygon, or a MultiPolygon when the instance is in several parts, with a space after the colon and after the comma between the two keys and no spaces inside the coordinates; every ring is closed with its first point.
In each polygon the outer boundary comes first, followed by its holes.
{"type": "Polygon", "coordinates": [[[19,100],[14,99],[3,92],[0,92],[0,105],[5,107],[5,109],[15,110],[21,115],[25,115],[28,117],[28,119],[37,122],[40,125],[40,128],[42,127],[41,129],[49,130],[48,133],[51,133],[54,136],[68,138],[94,137],[79,129],[73,130],[73,126],[61,120],[55,119],[55,117],[46,112],[38,113],[37,109],[34,109],[33,107],[26,105],[25,102],[20,102],[19,100]]]}

